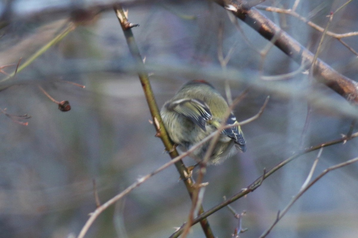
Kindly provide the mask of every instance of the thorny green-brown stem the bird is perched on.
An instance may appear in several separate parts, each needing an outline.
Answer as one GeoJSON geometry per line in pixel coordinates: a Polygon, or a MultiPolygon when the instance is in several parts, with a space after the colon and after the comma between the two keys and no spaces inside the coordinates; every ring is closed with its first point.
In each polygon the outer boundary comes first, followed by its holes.
{"type": "MultiPolygon", "coordinates": [[[[113,7],[113,9],[116,12],[116,15],[118,17],[118,20],[121,24],[122,30],[124,32],[124,36],[126,38],[129,50],[132,54],[132,56],[135,59],[136,67],[138,70],[138,76],[149,106],[150,113],[153,117],[153,125],[156,129],[156,136],[160,137],[163,141],[163,144],[165,146],[165,149],[169,151],[170,157],[175,158],[178,156],[178,152],[174,149],[173,150],[173,143],[170,141],[168,133],[165,130],[163,121],[160,117],[160,112],[158,109],[158,106],[156,104],[153,91],[151,90],[150,82],[149,82],[149,76],[145,70],[145,66],[142,60],[142,57],[140,55],[138,46],[135,42],[134,35],[132,33],[131,28],[138,26],[137,24],[131,24],[128,21],[128,12],[125,12],[120,4],[117,4],[113,7]]],[[[190,198],[193,197],[193,180],[191,178],[188,178],[188,170],[184,166],[184,163],[182,161],[178,161],[175,163],[175,167],[178,170],[180,177],[183,179],[183,182],[185,183],[185,187],[187,188],[190,198]]],[[[198,214],[201,214],[204,212],[204,209],[202,206],[199,207],[198,214]]],[[[207,219],[204,219],[200,221],[200,224],[203,228],[203,231],[205,233],[205,236],[207,238],[214,238],[213,232],[209,226],[209,223],[207,219]]]]}

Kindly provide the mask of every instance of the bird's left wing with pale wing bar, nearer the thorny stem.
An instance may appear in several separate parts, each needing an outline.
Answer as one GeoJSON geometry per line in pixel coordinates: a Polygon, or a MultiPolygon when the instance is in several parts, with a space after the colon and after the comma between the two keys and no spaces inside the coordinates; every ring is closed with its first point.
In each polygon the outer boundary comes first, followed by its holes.
{"type": "Polygon", "coordinates": [[[209,106],[199,99],[184,98],[170,102],[166,107],[192,120],[204,131],[206,122],[213,117],[209,106]]]}

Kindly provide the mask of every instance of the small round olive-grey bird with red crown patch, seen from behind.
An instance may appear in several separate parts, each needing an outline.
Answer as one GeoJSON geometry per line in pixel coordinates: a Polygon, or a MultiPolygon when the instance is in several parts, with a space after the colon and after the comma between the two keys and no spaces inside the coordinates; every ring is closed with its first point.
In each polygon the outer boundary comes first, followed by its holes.
{"type": "MultiPolygon", "coordinates": [[[[229,106],[221,94],[208,82],[194,80],[164,103],[160,115],[170,139],[180,150],[187,151],[221,126],[229,106]]],[[[245,152],[245,138],[236,117],[231,112],[219,140],[209,158],[209,164],[219,164],[237,151],[245,152]]],[[[190,153],[198,162],[203,159],[210,141],[190,153]]]]}

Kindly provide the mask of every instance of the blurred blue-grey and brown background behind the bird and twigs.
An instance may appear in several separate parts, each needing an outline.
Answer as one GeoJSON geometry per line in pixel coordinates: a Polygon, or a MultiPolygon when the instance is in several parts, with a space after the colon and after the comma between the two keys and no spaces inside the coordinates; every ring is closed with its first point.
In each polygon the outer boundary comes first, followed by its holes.
{"type": "MultiPolygon", "coordinates": [[[[149,123],[151,115],[112,2],[0,3],[0,66],[15,64],[2,69],[7,74],[16,69],[20,58],[21,65],[59,34],[69,19],[83,20],[15,77],[0,75],[0,108],[11,115],[32,116],[19,120],[0,114],[0,238],[76,237],[88,214],[96,209],[93,179],[103,203],[170,159],[149,123]],[[97,14],[99,5],[105,10],[97,14]],[[55,100],[68,100],[71,111],[58,110],[38,85],[55,100]]],[[[341,138],[358,116],[343,97],[315,83],[303,70],[297,71],[298,64],[211,1],[122,2],[130,22],[140,25],[132,30],[151,72],[159,107],[193,79],[211,82],[229,99],[248,89],[235,107],[239,121],[255,115],[265,98],[271,97],[261,117],[242,126],[247,152],[207,168],[206,210],[301,147],[341,138]],[[262,57],[260,52],[265,50],[262,57]],[[218,56],[221,51],[224,57],[231,52],[224,67],[218,56]],[[278,75],[294,71],[297,74],[292,77],[278,80],[278,75]]],[[[296,2],[298,14],[325,27],[326,16],[345,0],[296,2]]],[[[289,9],[294,3],[267,0],[262,6],[289,9]]],[[[329,30],[357,31],[357,10],[358,2],[350,2],[334,15],[329,30]]],[[[321,32],[291,16],[262,13],[316,51],[321,32]]],[[[357,36],[343,40],[358,51],[357,36]]],[[[326,36],[319,57],[357,80],[357,55],[337,39],[326,36]]],[[[357,130],[355,126],[354,132],[357,130]]],[[[357,140],[324,148],[314,177],[329,166],[357,157],[357,140]]],[[[242,226],[248,230],[240,237],[259,237],[271,226],[277,211],[299,191],[317,154],[295,159],[231,204],[238,213],[246,211],[242,226]]],[[[184,163],[194,161],[185,158],[184,163]]],[[[357,166],[324,176],[268,237],[357,237],[357,166]]],[[[86,237],[169,237],[174,227],[187,220],[190,205],[184,184],[171,166],[109,207],[86,237]]],[[[237,227],[227,208],[208,220],[216,237],[231,237],[237,227]]],[[[200,226],[195,225],[188,237],[204,237],[200,226]]]]}

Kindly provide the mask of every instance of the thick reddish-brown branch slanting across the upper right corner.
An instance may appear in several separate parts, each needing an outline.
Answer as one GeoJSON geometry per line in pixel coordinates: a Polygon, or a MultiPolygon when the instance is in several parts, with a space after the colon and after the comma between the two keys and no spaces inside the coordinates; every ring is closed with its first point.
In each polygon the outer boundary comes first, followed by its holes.
{"type": "MultiPolygon", "coordinates": [[[[226,0],[213,1],[231,11],[236,17],[244,21],[267,40],[271,41],[274,37],[277,37],[274,44],[297,63],[301,64],[302,61],[308,61],[310,64],[313,63],[314,54],[312,52],[293,39],[279,26],[275,25],[265,15],[261,14],[255,7],[245,10],[231,1],[229,3],[226,0]]],[[[358,104],[358,83],[339,74],[321,59],[317,59],[314,76],[316,80],[332,88],[349,102],[358,104]]]]}

